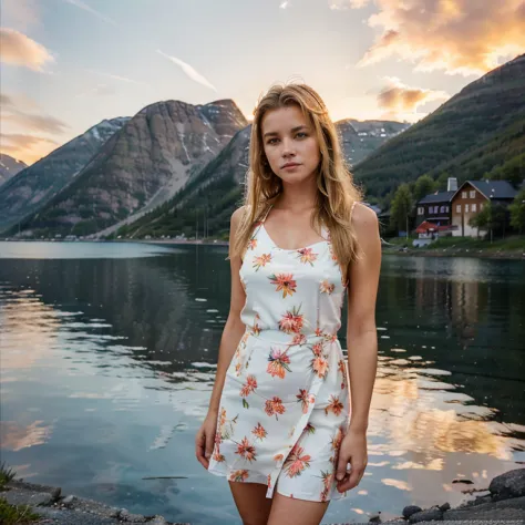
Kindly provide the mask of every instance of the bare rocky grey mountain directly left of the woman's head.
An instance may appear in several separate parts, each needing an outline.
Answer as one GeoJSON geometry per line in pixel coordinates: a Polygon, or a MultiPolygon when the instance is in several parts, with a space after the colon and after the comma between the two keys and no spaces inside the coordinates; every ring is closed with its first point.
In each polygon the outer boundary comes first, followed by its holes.
{"type": "Polygon", "coordinates": [[[27,234],[89,235],[144,214],[181,189],[247,121],[231,100],[144,107],[64,189],[22,223],[27,234]]]}

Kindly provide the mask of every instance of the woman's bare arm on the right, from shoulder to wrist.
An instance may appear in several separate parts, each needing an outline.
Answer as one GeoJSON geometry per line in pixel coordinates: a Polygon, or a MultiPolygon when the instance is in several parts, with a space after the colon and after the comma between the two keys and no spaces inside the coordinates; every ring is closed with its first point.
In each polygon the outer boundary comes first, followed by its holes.
{"type": "Polygon", "coordinates": [[[381,267],[381,239],[375,213],[356,204],[352,224],[359,259],[350,267],[348,287],[348,369],[351,392],[350,430],[366,432],[378,363],[375,299],[381,267]]]}

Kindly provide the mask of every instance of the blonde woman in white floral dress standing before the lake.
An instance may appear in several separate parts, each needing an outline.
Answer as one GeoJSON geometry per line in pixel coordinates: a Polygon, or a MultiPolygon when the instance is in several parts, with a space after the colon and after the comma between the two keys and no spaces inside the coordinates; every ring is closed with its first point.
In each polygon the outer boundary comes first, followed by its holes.
{"type": "Polygon", "coordinates": [[[246,203],[230,223],[230,311],[196,456],[227,476],[245,525],[317,525],[367,465],[378,220],[358,203],[311,87],[272,86],[250,140],[246,203]],[[348,372],[337,338],[346,291],[348,372]]]}

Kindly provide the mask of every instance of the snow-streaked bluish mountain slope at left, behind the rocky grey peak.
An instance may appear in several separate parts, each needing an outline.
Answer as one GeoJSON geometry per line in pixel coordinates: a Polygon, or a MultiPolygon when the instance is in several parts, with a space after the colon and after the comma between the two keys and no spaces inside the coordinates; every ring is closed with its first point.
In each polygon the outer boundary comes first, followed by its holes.
{"type": "Polygon", "coordinates": [[[3,184],[0,187],[0,230],[49,203],[127,120],[100,122],[3,184]]]}

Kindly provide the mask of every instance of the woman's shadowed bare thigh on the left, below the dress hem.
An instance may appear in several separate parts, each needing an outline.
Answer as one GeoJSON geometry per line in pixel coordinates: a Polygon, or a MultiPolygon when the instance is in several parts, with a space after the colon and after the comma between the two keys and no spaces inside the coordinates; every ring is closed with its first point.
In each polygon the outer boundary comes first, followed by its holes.
{"type": "Polygon", "coordinates": [[[268,487],[262,483],[228,482],[243,525],[266,525],[271,500],[266,497],[268,487]]]}

